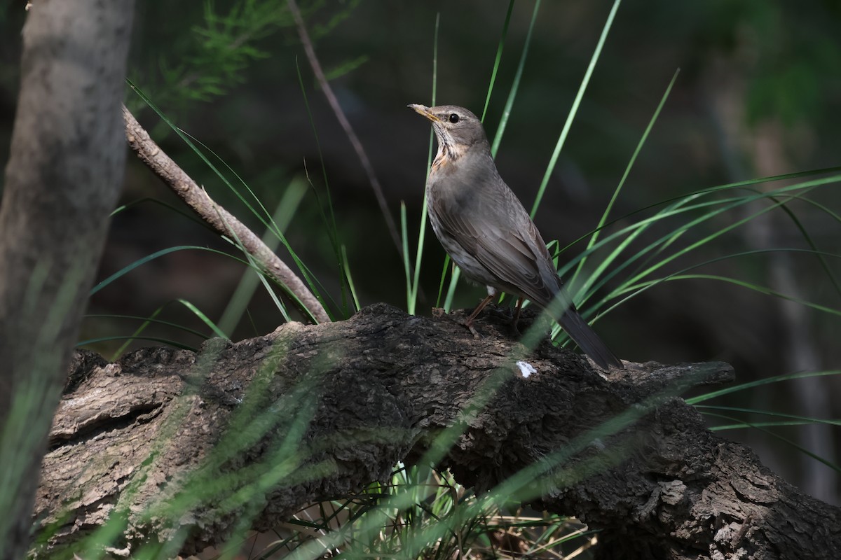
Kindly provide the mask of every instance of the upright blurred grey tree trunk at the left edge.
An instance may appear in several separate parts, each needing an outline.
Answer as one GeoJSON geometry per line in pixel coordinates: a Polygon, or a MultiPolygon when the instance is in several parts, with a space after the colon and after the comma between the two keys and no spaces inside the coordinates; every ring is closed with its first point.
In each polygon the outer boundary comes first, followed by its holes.
{"type": "Polygon", "coordinates": [[[24,26],[0,207],[2,558],[29,547],[34,473],[122,185],[132,8],[40,0],[24,26]]]}

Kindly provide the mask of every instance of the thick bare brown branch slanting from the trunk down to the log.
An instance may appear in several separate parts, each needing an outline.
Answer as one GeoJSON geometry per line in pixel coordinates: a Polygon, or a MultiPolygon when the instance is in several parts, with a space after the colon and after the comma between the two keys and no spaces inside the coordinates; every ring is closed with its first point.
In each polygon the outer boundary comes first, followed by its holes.
{"type": "Polygon", "coordinates": [[[123,107],[125,136],[131,149],[152,172],[161,178],[169,188],[181,197],[187,205],[217,232],[229,235],[257,260],[257,264],[274,280],[277,280],[290,294],[298,298],[304,311],[317,322],[330,322],[324,306],[304,285],[298,275],[281,260],[262,239],[246,228],[233,214],[216,204],[209,194],[200,188],[149,136],[134,115],[123,107]]]}

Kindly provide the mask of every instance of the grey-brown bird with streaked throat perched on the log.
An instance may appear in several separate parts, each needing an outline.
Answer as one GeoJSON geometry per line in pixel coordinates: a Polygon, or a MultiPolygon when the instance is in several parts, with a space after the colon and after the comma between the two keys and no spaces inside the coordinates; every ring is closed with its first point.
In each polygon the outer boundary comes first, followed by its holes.
{"type": "Polygon", "coordinates": [[[532,217],[496,169],[479,118],[456,105],[407,107],[431,121],[438,143],[426,181],[432,230],[467,279],[488,290],[465,326],[479,336],[473,320],[505,292],[518,297],[515,326],[527,299],[554,311],[553,319],[595,364],[602,369],[623,368],[563,288],[532,217]]]}

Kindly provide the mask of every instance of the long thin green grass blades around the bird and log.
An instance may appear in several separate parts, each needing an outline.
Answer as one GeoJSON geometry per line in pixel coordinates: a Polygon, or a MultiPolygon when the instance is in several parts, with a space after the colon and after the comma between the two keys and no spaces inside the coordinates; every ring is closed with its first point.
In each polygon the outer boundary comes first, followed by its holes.
{"type": "MultiPolygon", "coordinates": [[[[500,148],[506,124],[510,118],[516,102],[516,94],[519,91],[520,79],[526,65],[528,47],[532,37],[532,29],[537,21],[540,0],[534,3],[532,17],[530,20],[526,41],[521,50],[519,62],[516,65],[516,72],[510,85],[508,97],[505,102],[505,109],[500,116],[500,123],[496,128],[493,139],[493,153],[496,154],[500,148]]],[[[584,92],[595,70],[603,45],[606,42],[611,24],[616,17],[620,2],[613,3],[611,12],[606,18],[606,23],[600,34],[600,39],[595,47],[590,65],[584,74],[579,86],[578,94],[575,97],[569,117],[564,123],[557,144],[553,150],[547,169],[542,178],[536,200],[532,206],[532,215],[537,212],[542,197],[547,188],[549,176],[558,161],[558,156],[569,129],[574,123],[574,116],[584,92]]],[[[489,79],[487,95],[485,97],[482,118],[487,114],[489,101],[492,97],[496,83],[497,71],[502,57],[505,53],[505,39],[509,33],[511,14],[514,2],[510,3],[505,14],[504,24],[501,29],[500,39],[497,44],[494,68],[489,79]]],[[[437,79],[437,39],[439,33],[439,18],[436,18],[433,41],[433,75],[432,75],[432,103],[436,103],[436,79],[437,79]]],[[[785,212],[785,216],[791,220],[797,231],[801,232],[802,238],[811,249],[780,248],[777,250],[799,251],[803,254],[811,254],[820,259],[828,279],[839,291],[838,282],[834,279],[830,267],[826,265],[828,259],[838,258],[838,254],[828,253],[821,250],[817,243],[807,233],[807,228],[800,222],[796,212],[791,208],[791,202],[806,202],[813,207],[821,209],[824,214],[834,222],[839,222],[838,215],[831,209],[822,207],[813,201],[811,194],[819,188],[833,186],[841,181],[841,168],[828,170],[812,170],[801,173],[780,175],[754,179],[751,181],[740,181],[737,183],[704,188],[697,191],[685,193],[669,200],[660,201],[649,207],[641,208],[621,217],[613,217],[616,201],[621,196],[622,189],[626,185],[627,177],[637,160],[637,155],[645,145],[648,135],[663,110],[669,92],[677,78],[674,75],[669,86],[661,98],[658,107],[653,113],[648,128],[643,133],[637,144],[626,170],[618,181],[611,200],[606,204],[605,211],[600,221],[590,233],[584,235],[577,243],[584,243],[584,250],[579,254],[572,253],[572,244],[560,248],[556,241],[550,243],[553,254],[558,262],[561,262],[559,274],[569,277],[569,286],[574,301],[581,304],[585,317],[604,317],[618,306],[624,305],[627,301],[637,297],[646,290],[656,288],[664,282],[682,280],[715,280],[726,281],[741,285],[747,290],[759,291],[775,297],[790,298],[785,294],[776,293],[759,283],[738,278],[728,278],[722,275],[711,275],[698,272],[707,265],[714,264],[722,259],[743,259],[751,255],[758,255],[760,252],[733,252],[717,257],[717,259],[698,259],[696,262],[686,264],[685,261],[695,259],[699,249],[709,246],[720,240],[727,233],[733,232],[736,228],[742,227],[750,220],[757,219],[768,212],[785,212]],[[758,190],[762,184],[768,185],[780,181],[796,181],[794,184],[779,186],[776,188],[765,188],[758,190]],[[752,210],[748,215],[742,215],[744,208],[753,208],[755,203],[764,204],[759,210],[752,210]],[[733,217],[734,215],[738,217],[733,217]],[[726,219],[722,219],[726,218],[726,219]],[[721,225],[722,222],[724,225],[721,225]],[[712,225],[711,225],[712,224],[712,225]],[[680,264],[678,264],[680,263],[680,264]]],[[[304,99],[306,99],[306,88],[304,80],[300,78],[304,99]]],[[[134,86],[133,86],[134,87],[134,86]]],[[[257,217],[265,228],[267,239],[276,241],[288,251],[294,259],[301,275],[307,281],[310,289],[319,296],[320,301],[325,303],[333,317],[346,317],[353,309],[358,308],[359,302],[352,281],[346,248],[341,241],[341,233],[336,226],[336,213],[331,201],[329,181],[326,169],[322,166],[321,178],[325,186],[324,192],[317,192],[315,186],[306,178],[306,185],[309,185],[309,192],[314,193],[318,198],[317,203],[325,231],[328,232],[331,243],[331,252],[336,264],[336,280],[341,290],[340,301],[333,301],[324,289],[324,285],[315,278],[315,275],[299,259],[294,249],[284,237],[284,230],[294,214],[294,209],[303,203],[304,180],[296,179],[288,186],[288,191],[283,198],[282,204],[275,212],[268,212],[263,207],[257,196],[232,170],[225,166],[214,164],[214,154],[209,154],[207,149],[191,139],[188,134],[183,133],[177,126],[161,112],[148,97],[139,92],[141,98],[167,125],[175,131],[182,140],[193,150],[198,160],[202,160],[209,169],[213,170],[215,176],[222,185],[227,186],[235,193],[237,199],[246,207],[247,212],[257,217]],[[231,181],[229,175],[235,176],[231,181]],[[290,212],[290,208],[292,208],[290,212]]],[[[308,116],[317,138],[312,115],[308,116]]],[[[432,157],[432,136],[430,137],[430,154],[432,157]]],[[[320,149],[320,148],[319,148],[320,149]]],[[[322,157],[322,161],[324,158],[322,157]]],[[[415,259],[410,256],[409,230],[412,217],[407,215],[405,206],[401,206],[400,223],[403,236],[403,269],[405,274],[406,307],[410,313],[418,311],[418,294],[421,282],[421,267],[424,265],[423,246],[426,243],[426,196],[424,196],[423,213],[418,226],[418,243],[415,248],[415,259]]],[[[262,282],[263,288],[267,290],[275,301],[278,312],[289,317],[289,309],[283,299],[275,291],[275,286],[259,274],[259,268],[241,250],[236,240],[229,239],[231,252],[225,254],[227,257],[239,260],[246,266],[246,275],[241,282],[241,288],[229,303],[228,309],[223,313],[219,321],[214,322],[211,318],[199,310],[187,300],[178,300],[177,305],[188,307],[206,327],[206,332],[195,329],[189,332],[193,336],[206,338],[211,335],[229,337],[235,325],[240,322],[246,312],[245,303],[250,299],[251,294],[262,282]],[[255,274],[257,273],[257,274],[255,274]]],[[[179,250],[208,250],[206,248],[178,246],[151,254],[144,259],[139,259],[130,264],[117,274],[103,280],[94,292],[106,285],[111,285],[124,275],[135,270],[137,266],[148,263],[164,254],[179,250]]],[[[219,253],[219,252],[216,252],[219,253]]],[[[450,270],[447,259],[442,266],[441,280],[438,287],[436,305],[442,304],[445,309],[452,307],[452,300],[458,285],[458,269],[452,271],[447,281],[447,271],[450,270]]],[[[791,298],[790,298],[791,299],[791,298]]],[[[841,314],[838,309],[830,306],[823,306],[811,301],[799,301],[803,305],[810,306],[816,311],[832,315],[841,314]]],[[[145,328],[151,323],[166,321],[158,319],[163,306],[151,314],[151,317],[131,318],[133,321],[140,321],[130,339],[134,340],[143,336],[145,328]]],[[[537,344],[542,333],[533,330],[526,333],[526,346],[533,347],[537,344]]],[[[553,338],[558,343],[563,343],[563,332],[558,327],[553,330],[553,338]]],[[[98,338],[86,341],[93,343],[103,341],[106,338],[98,338]]],[[[172,341],[168,343],[177,344],[172,341]]],[[[120,348],[120,351],[125,348],[120,348]]],[[[278,348],[278,355],[283,354],[283,348],[278,348]]],[[[213,359],[212,352],[204,359],[213,359]]],[[[780,383],[790,381],[806,375],[835,375],[838,371],[827,371],[817,373],[791,374],[773,379],[765,379],[761,383],[780,383]]],[[[594,427],[589,432],[581,434],[573,442],[570,442],[563,449],[547,453],[544,460],[530,468],[526,468],[510,479],[505,480],[497,488],[488,493],[477,496],[469,489],[460,486],[452,475],[446,471],[436,470],[436,464],[449,452],[458,437],[463,435],[468,422],[487,404],[493,397],[499,386],[500,375],[491,376],[488,384],[479,391],[476,400],[466,407],[463,421],[453,426],[450,430],[440,434],[429,448],[425,457],[421,458],[415,465],[398,464],[394,468],[389,481],[385,484],[371,484],[358,495],[346,496],[344,499],[331,500],[318,505],[311,505],[293,516],[283,527],[278,527],[278,538],[271,545],[256,552],[253,557],[292,557],[292,558],[315,558],[324,555],[334,555],[346,558],[370,558],[370,557],[425,557],[425,558],[450,558],[450,557],[483,557],[496,555],[496,557],[514,557],[518,554],[550,554],[557,557],[572,557],[580,554],[590,547],[593,534],[584,530],[579,524],[563,519],[558,516],[542,516],[530,514],[519,508],[523,501],[537,498],[535,488],[539,484],[533,484],[535,480],[551,481],[550,476],[563,476],[568,483],[574,483],[586,479],[595,469],[604,468],[604,463],[584,463],[572,469],[568,468],[569,458],[579,453],[591,442],[608,437],[611,434],[621,431],[631,425],[643,414],[651,411],[660,399],[667,395],[682,395],[684,385],[674,385],[667,388],[659,395],[654,395],[649,400],[633,407],[626,414],[608,419],[602,425],[594,427]],[[500,534],[509,539],[508,542],[520,542],[526,547],[525,552],[507,551],[500,545],[500,534]],[[506,556],[508,555],[508,556],[506,556]]],[[[317,379],[317,372],[314,378],[317,379]]],[[[185,512],[192,510],[199,504],[213,504],[220,510],[228,512],[243,511],[241,523],[235,531],[227,547],[222,547],[220,556],[222,558],[234,557],[246,542],[248,529],[251,521],[259,514],[257,507],[253,504],[262,503],[263,497],[273,488],[279,485],[288,484],[296,477],[301,476],[298,469],[306,459],[305,452],[300,447],[303,432],[308,425],[309,419],[315,410],[315,405],[307,398],[306,386],[301,385],[295,388],[290,395],[281,403],[275,403],[272,414],[268,409],[262,409],[267,403],[260,398],[260,381],[251,388],[248,400],[237,411],[235,420],[231,423],[230,429],[225,433],[220,445],[214,450],[193,474],[190,474],[184,483],[185,491],[176,500],[161,500],[161,504],[148,512],[149,516],[161,516],[163,519],[176,519],[185,512]],[[278,408],[279,407],[279,408],[278,408]],[[275,414],[273,411],[282,409],[283,415],[275,414]],[[247,445],[253,444],[259,438],[269,433],[280,434],[274,441],[271,456],[265,464],[250,465],[240,473],[229,474],[224,480],[214,479],[215,468],[221,463],[241,453],[247,445]],[[233,489],[233,490],[232,490],[233,489]]],[[[690,404],[699,406],[706,414],[717,415],[728,421],[727,425],[717,427],[718,430],[738,429],[753,427],[764,429],[766,427],[785,426],[795,423],[822,421],[828,425],[838,426],[841,422],[831,419],[815,419],[809,416],[783,415],[770,411],[760,411],[775,418],[770,422],[749,422],[732,420],[733,414],[737,412],[755,413],[750,409],[733,409],[722,406],[701,405],[702,402],[711,400],[718,396],[736,390],[749,390],[758,383],[743,384],[738,387],[718,390],[707,395],[689,399],[690,404]],[[703,408],[701,408],[703,407],[703,408]]],[[[177,417],[177,416],[176,416],[177,417]]],[[[172,427],[170,427],[172,428],[172,427]]],[[[172,428],[174,429],[174,428],[172,428]]],[[[161,436],[161,445],[166,442],[167,434],[161,436]]],[[[802,450],[802,449],[801,449],[802,450]]],[[[802,450],[803,453],[809,453],[802,450]]],[[[612,450],[614,453],[611,460],[614,463],[621,462],[630,453],[627,449],[612,450]]],[[[156,461],[159,457],[154,455],[150,461],[156,461]]],[[[827,458],[817,458],[838,469],[832,461],[827,458]]],[[[320,474],[318,468],[307,471],[306,475],[317,476],[320,474]]],[[[138,480],[139,478],[135,478],[138,480]]],[[[133,484],[133,483],[132,483],[133,484]]],[[[130,493],[134,490],[130,484],[125,490],[130,493]]],[[[127,515],[127,514],[126,514],[127,515]]],[[[99,550],[120,535],[125,527],[125,516],[114,516],[114,519],[97,531],[90,539],[83,543],[79,550],[99,550]]],[[[163,558],[172,557],[177,553],[177,548],[183,542],[184,535],[177,535],[171,541],[156,546],[149,546],[141,550],[137,557],[163,558]]]]}

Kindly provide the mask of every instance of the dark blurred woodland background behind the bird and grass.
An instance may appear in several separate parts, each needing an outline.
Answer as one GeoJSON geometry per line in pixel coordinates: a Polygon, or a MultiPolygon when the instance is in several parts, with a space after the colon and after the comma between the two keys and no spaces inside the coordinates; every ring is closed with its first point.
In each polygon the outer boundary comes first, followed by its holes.
{"type": "MultiPolygon", "coordinates": [[[[19,85],[23,4],[7,3],[0,12],[3,165],[19,85]]],[[[520,65],[535,3],[521,0],[512,6],[484,121],[489,137],[500,123],[520,65]]],[[[397,223],[400,203],[405,202],[413,248],[430,127],[405,106],[430,105],[435,77],[438,104],[458,104],[481,114],[509,3],[316,0],[300,7],[320,63],[370,157],[397,223]]],[[[500,174],[526,207],[535,199],[610,10],[607,0],[544,0],[539,7],[497,155],[500,174]]],[[[611,219],[618,220],[612,228],[638,219],[633,212],[691,191],[841,165],[839,24],[837,0],[626,0],[537,212],[543,237],[558,239],[565,247],[596,227],[678,68],[674,90],[611,212],[611,219]]],[[[230,167],[226,175],[241,177],[270,212],[288,189],[297,189],[301,198],[287,238],[326,293],[341,301],[341,270],[331,246],[329,220],[324,219],[331,201],[361,305],[386,301],[405,308],[399,250],[368,176],[315,81],[285,2],[139,2],[133,41],[130,79],[179,128],[204,144],[207,153],[217,154],[230,167]]],[[[132,92],[126,102],[199,185],[262,233],[260,222],[155,113],[132,92]]],[[[789,207],[817,249],[837,255],[838,190],[828,186],[810,196],[817,204],[792,202],[789,207]]],[[[230,245],[202,225],[153,200],[182,207],[130,156],[123,198],[130,207],[114,217],[101,278],[175,245],[230,251],[230,245]]],[[[718,222],[701,225],[691,235],[703,238],[756,209],[722,214],[718,222]]],[[[637,244],[642,247],[662,233],[654,228],[637,244]]],[[[561,262],[584,248],[585,243],[578,243],[567,249],[561,262]]],[[[725,254],[772,248],[809,249],[802,231],[783,212],[765,214],[706,243],[695,254],[676,260],[672,270],[725,254]]],[[[443,259],[436,239],[427,236],[417,307],[421,314],[436,305],[443,259]]],[[[696,272],[754,282],[838,310],[837,259],[828,259],[828,264],[827,270],[813,254],[777,252],[727,259],[696,272]]],[[[243,272],[234,259],[177,251],[99,291],[89,312],[149,317],[163,306],[158,318],[209,335],[192,312],[171,302],[188,300],[217,321],[243,272]]],[[[460,286],[455,306],[473,306],[483,291],[460,286]]],[[[352,310],[336,305],[331,311],[343,317],[352,310]]],[[[281,322],[270,298],[257,290],[231,338],[257,336],[281,322]]],[[[92,317],[83,336],[129,336],[137,327],[136,321],[92,317]]],[[[681,280],[644,291],[602,317],[596,328],[624,359],[724,360],[736,367],[740,381],[748,381],[838,367],[838,327],[838,311],[816,311],[720,281],[681,280]]],[[[201,341],[165,326],[150,327],[145,335],[193,346],[201,341]]],[[[149,343],[135,346],[144,344],[149,343]]],[[[100,343],[94,348],[108,353],[119,345],[100,343]]],[[[833,376],[800,379],[741,392],[722,404],[838,418],[841,405],[833,395],[841,390],[839,382],[833,376]]],[[[711,417],[711,425],[719,423],[721,419],[711,417]]],[[[774,432],[839,463],[837,428],[775,427],[774,432]]],[[[791,453],[778,437],[761,430],[725,435],[748,442],[764,463],[812,495],[841,503],[835,468],[806,453],[791,453]]]]}

